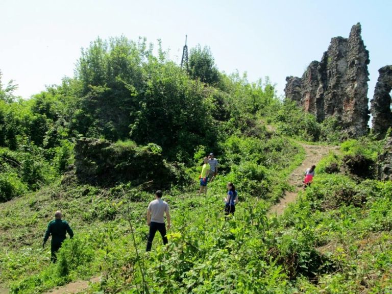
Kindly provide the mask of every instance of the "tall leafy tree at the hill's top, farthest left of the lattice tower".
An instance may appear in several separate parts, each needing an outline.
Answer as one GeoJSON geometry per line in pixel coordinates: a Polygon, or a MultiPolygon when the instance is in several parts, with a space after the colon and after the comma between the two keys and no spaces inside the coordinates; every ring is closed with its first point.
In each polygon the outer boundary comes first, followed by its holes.
{"type": "Polygon", "coordinates": [[[144,39],[134,42],[123,36],[109,42],[97,39],[82,50],[76,69],[82,97],[74,124],[79,133],[113,141],[129,136],[150,54],[144,39]]]}

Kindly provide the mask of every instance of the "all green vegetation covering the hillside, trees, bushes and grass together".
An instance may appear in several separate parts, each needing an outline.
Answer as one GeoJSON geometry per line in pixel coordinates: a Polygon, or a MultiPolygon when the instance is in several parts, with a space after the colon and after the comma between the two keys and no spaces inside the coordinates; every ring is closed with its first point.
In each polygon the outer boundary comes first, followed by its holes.
{"type": "Polygon", "coordinates": [[[293,189],[300,141],[345,139],[336,121],[318,124],[268,79],[219,72],[207,47],[192,48],[189,72],[160,44],[153,52],[144,39],[97,39],[74,78],[28,101],[0,87],[0,283],[12,293],[94,276],[87,292],[392,291],[392,184],[375,180],[383,141],[342,142],[297,203],[268,215],[293,189]],[[197,196],[211,151],[219,176],[197,196]],[[228,181],[240,204],[225,218],[228,181]],[[173,227],[168,246],[157,236],[146,254],[158,187],[173,227]],[[57,209],[76,237],[51,264],[41,243],[57,209]]]}

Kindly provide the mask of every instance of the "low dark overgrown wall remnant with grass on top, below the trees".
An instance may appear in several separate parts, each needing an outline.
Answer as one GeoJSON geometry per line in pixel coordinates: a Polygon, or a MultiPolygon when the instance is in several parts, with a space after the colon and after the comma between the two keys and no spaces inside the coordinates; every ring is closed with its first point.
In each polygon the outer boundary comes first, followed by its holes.
{"type": "Polygon", "coordinates": [[[131,181],[143,188],[165,189],[189,181],[183,164],[168,163],[160,146],[150,143],[110,143],[106,140],[82,138],[75,146],[78,178],[83,182],[113,186],[131,181]]]}

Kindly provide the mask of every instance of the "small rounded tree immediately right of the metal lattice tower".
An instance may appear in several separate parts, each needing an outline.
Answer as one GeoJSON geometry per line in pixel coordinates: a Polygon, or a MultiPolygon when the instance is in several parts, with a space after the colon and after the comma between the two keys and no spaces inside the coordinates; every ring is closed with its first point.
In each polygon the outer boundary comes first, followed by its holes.
{"type": "Polygon", "coordinates": [[[216,84],[219,82],[219,71],[209,47],[200,45],[191,48],[189,54],[189,75],[192,79],[199,79],[203,83],[216,84]]]}

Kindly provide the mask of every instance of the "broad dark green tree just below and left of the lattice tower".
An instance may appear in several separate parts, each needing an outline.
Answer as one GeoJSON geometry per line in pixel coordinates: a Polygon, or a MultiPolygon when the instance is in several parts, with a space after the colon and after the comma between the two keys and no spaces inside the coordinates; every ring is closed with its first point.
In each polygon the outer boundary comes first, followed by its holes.
{"type": "Polygon", "coordinates": [[[160,145],[171,160],[189,160],[195,146],[212,141],[212,116],[204,86],[189,79],[173,62],[151,60],[148,76],[131,138],[139,144],[160,145]]]}

